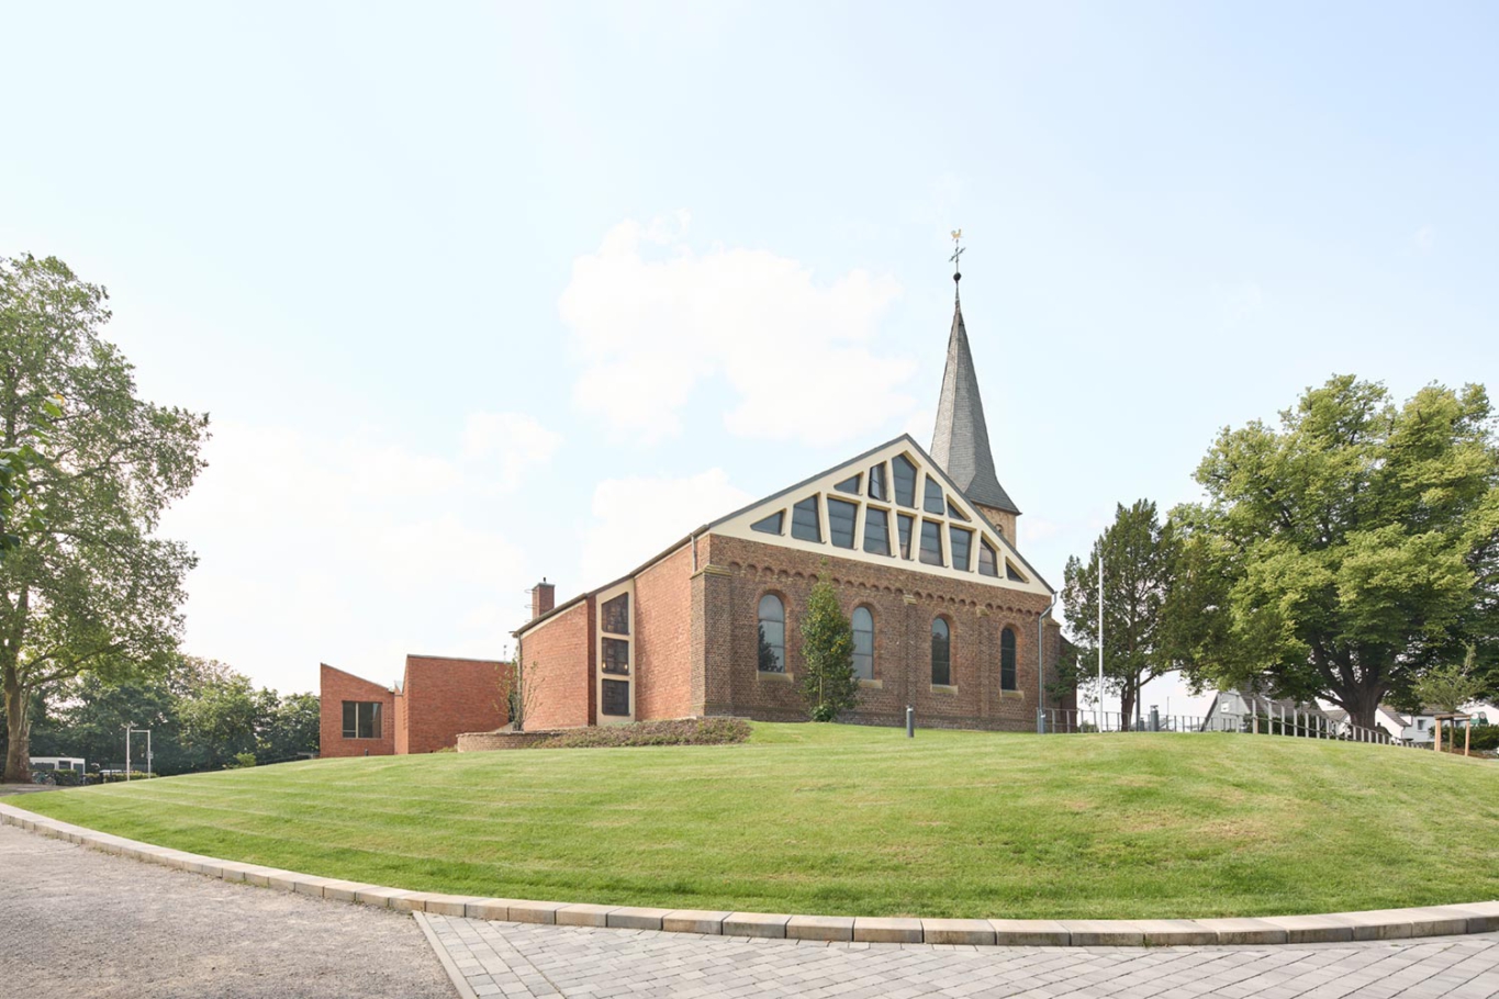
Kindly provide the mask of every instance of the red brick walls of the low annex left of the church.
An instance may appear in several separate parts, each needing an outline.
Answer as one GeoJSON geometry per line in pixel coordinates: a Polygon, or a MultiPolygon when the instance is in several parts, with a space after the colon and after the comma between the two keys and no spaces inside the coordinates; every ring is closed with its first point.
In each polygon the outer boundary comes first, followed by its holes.
{"type": "Polygon", "coordinates": [[[502,680],[510,664],[489,659],[406,656],[399,689],[382,687],[330,665],[321,668],[321,755],[390,756],[430,753],[457,744],[460,732],[504,725],[502,680]],[[343,702],[381,705],[379,738],[343,737],[343,702]]]}

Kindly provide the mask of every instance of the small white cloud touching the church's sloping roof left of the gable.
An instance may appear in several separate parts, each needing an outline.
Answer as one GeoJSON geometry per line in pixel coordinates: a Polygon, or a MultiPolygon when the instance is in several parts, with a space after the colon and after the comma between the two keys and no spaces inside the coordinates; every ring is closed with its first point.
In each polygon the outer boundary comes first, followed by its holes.
{"type": "Polygon", "coordinates": [[[622,577],[687,532],[751,499],[729,484],[723,469],[681,479],[606,479],[594,490],[594,521],[583,538],[583,578],[595,587],[622,577]]]}

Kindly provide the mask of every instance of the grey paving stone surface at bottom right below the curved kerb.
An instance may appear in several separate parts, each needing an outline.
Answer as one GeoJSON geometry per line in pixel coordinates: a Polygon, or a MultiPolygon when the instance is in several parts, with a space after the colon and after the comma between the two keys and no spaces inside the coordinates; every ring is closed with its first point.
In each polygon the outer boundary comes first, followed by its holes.
{"type": "Polygon", "coordinates": [[[420,915],[472,996],[1499,995],[1499,933],[1280,947],[962,947],[693,936],[420,915]]]}

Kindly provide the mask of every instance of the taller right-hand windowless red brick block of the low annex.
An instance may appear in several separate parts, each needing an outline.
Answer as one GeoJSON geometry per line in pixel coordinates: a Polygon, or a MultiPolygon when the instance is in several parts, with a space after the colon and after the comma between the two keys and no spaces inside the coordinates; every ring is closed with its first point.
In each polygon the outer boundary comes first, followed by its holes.
{"type": "Polygon", "coordinates": [[[508,664],[492,659],[406,656],[406,746],[396,752],[430,753],[456,746],[459,732],[484,732],[510,719],[501,681],[508,664]]]}

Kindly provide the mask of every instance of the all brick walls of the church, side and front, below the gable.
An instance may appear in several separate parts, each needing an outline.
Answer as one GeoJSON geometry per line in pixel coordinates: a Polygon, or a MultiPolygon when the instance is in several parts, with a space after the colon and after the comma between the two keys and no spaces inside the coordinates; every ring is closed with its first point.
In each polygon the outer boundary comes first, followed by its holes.
{"type": "MultiPolygon", "coordinates": [[[[634,577],[636,719],[733,714],[803,720],[800,616],[820,572],[830,577],[842,610],[874,617],[874,680],[844,720],[899,725],[905,705],[920,725],[1034,731],[1037,620],[1049,598],[971,580],[931,575],[899,563],[871,565],[742,538],[703,535],[684,542],[634,577]],[[693,568],[693,548],[697,569],[693,568]],[[785,672],[758,668],[758,605],[766,593],[785,608],[785,672]],[[932,620],[950,629],[950,683],[932,684],[932,620]],[[1001,632],[1015,632],[1015,683],[1004,689],[1001,632]]],[[[537,689],[528,728],[598,722],[592,593],[532,629],[519,632],[537,689]]],[[[1055,683],[1061,634],[1046,619],[1046,684],[1055,683]]]]}

